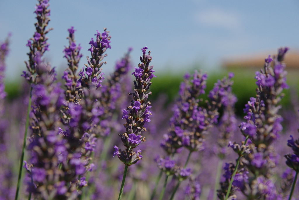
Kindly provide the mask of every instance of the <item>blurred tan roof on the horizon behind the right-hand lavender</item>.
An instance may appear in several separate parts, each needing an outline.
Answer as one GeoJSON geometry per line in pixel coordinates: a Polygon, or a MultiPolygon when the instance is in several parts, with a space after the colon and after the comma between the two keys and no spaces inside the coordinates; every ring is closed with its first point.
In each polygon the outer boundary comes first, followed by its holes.
{"type": "MultiPolygon", "coordinates": [[[[273,51],[275,52],[275,51],[273,51]]],[[[263,68],[267,55],[273,56],[274,53],[259,53],[244,56],[235,56],[230,59],[223,59],[221,66],[226,69],[231,68],[263,68]]],[[[277,53],[276,53],[277,54],[277,53]]],[[[299,70],[299,50],[289,50],[286,53],[284,62],[286,68],[299,70]]]]}

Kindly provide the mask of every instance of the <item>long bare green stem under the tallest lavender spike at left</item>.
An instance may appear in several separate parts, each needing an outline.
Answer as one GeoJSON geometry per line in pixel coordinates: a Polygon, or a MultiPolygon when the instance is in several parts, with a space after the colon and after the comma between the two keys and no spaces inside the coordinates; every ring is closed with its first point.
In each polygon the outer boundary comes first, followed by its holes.
{"type": "MultiPolygon", "coordinates": [[[[19,176],[18,176],[18,183],[17,183],[17,190],[16,190],[15,200],[18,200],[19,189],[20,189],[20,185],[21,185],[21,177],[22,177],[22,171],[23,171],[23,166],[22,165],[23,165],[23,162],[24,162],[26,139],[27,139],[27,130],[28,130],[28,125],[29,125],[29,114],[30,114],[30,110],[31,110],[31,97],[32,97],[32,87],[30,87],[28,111],[27,111],[26,124],[25,124],[25,135],[24,135],[24,141],[23,141],[22,155],[21,155],[21,159],[20,159],[20,168],[19,168],[19,176]]],[[[29,196],[31,196],[31,193],[29,194],[29,196]]]]}

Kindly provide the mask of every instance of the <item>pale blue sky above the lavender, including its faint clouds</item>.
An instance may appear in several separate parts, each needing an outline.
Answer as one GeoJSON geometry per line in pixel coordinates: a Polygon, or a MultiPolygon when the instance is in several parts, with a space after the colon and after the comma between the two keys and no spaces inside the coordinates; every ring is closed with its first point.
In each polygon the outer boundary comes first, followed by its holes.
{"type": "MultiPolygon", "coordinates": [[[[34,33],[37,1],[0,0],[0,40],[12,32],[7,76],[19,77],[28,59],[26,41],[34,33]]],[[[45,56],[59,71],[66,68],[63,49],[71,26],[75,39],[89,56],[89,41],[96,30],[110,31],[104,72],[133,47],[132,61],[139,63],[140,49],[147,46],[155,70],[176,73],[196,64],[216,70],[227,57],[273,51],[281,46],[299,49],[299,1],[208,0],[51,0],[48,33],[50,51],[45,56]]],[[[267,55],[265,55],[266,57],[267,55]]]]}

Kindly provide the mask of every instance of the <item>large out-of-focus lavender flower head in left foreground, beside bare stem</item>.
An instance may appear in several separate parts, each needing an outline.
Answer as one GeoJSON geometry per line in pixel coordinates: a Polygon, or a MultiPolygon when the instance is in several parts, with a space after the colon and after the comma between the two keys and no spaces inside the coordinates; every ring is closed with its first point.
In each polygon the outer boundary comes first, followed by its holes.
{"type": "Polygon", "coordinates": [[[35,118],[30,127],[33,133],[28,146],[31,167],[25,165],[32,180],[28,190],[40,199],[65,199],[77,193],[74,175],[81,173],[78,170],[80,164],[74,162],[76,158],[69,154],[69,145],[58,129],[62,126],[59,109],[63,103],[63,90],[60,84],[45,83],[33,87],[35,118]],[[74,169],[72,173],[70,169],[74,169]]]}

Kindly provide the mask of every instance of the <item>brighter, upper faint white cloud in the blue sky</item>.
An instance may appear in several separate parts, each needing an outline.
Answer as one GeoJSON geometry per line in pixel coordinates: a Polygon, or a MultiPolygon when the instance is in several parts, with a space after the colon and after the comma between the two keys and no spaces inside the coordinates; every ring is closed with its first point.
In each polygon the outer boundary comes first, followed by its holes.
{"type": "Polygon", "coordinates": [[[202,10],[196,14],[196,20],[209,27],[226,28],[236,30],[241,25],[240,17],[236,13],[231,13],[219,8],[202,10]]]}

